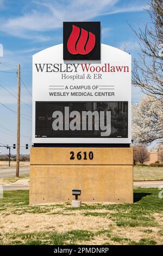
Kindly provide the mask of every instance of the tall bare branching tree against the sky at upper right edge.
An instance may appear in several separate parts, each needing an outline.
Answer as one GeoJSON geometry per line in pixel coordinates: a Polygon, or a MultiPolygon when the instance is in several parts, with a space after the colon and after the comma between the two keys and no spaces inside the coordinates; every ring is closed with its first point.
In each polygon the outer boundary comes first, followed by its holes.
{"type": "MultiPolygon", "coordinates": [[[[163,99],[163,0],[149,4],[151,25],[135,32],[141,51],[134,60],[133,84],[148,95],[163,99]]],[[[133,28],[132,28],[133,29],[133,28]]]]}

